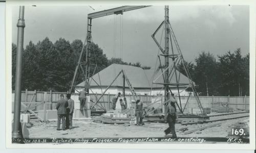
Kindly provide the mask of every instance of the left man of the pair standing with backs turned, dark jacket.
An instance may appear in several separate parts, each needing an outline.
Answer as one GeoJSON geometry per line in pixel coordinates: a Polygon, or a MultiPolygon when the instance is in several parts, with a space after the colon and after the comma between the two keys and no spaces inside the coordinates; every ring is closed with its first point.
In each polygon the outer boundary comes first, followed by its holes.
{"type": "Polygon", "coordinates": [[[62,130],[66,130],[66,122],[65,117],[67,114],[67,107],[68,107],[68,101],[64,99],[64,95],[60,95],[60,99],[58,100],[56,104],[57,114],[58,114],[58,122],[57,122],[57,130],[60,130],[60,119],[62,120],[62,130]]]}

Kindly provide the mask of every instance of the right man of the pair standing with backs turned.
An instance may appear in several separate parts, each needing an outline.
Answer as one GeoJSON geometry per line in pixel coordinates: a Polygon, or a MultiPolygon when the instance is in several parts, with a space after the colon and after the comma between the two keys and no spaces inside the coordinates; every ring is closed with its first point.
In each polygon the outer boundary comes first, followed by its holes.
{"type": "Polygon", "coordinates": [[[73,119],[73,113],[74,113],[74,100],[71,99],[71,94],[67,94],[68,98],[68,104],[69,106],[67,107],[67,116],[66,116],[66,129],[72,129],[72,119],[73,119]]]}

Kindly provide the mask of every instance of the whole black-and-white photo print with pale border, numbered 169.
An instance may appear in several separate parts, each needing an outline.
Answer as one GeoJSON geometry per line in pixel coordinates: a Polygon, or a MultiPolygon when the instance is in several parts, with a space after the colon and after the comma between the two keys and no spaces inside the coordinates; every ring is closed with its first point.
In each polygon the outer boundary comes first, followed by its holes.
{"type": "Polygon", "coordinates": [[[9,146],[255,148],[248,2],[10,3],[9,146]]]}

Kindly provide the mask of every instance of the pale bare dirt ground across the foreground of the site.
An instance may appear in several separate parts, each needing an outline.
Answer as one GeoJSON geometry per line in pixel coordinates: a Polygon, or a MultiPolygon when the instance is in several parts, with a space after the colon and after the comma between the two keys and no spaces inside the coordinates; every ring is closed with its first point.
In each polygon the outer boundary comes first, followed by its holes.
{"type": "MultiPolygon", "coordinates": [[[[218,113],[221,114],[221,113],[218,113]]],[[[216,115],[216,114],[210,114],[216,115]]],[[[210,120],[232,118],[246,116],[249,113],[222,115],[210,117],[210,120]]],[[[57,131],[57,121],[40,122],[31,120],[32,127],[28,127],[29,138],[136,138],[136,137],[164,137],[164,130],[168,127],[167,123],[160,122],[144,122],[144,125],[137,126],[135,124],[105,124],[100,123],[100,116],[92,116],[91,121],[73,120],[73,129],[66,131],[57,131]]],[[[181,121],[181,118],[178,119],[181,121]]],[[[198,120],[195,120],[198,121],[198,120]]],[[[182,121],[181,121],[182,122],[182,121]]],[[[193,122],[193,119],[190,119],[193,122]]],[[[177,132],[178,137],[227,137],[231,132],[233,125],[242,123],[249,129],[249,117],[228,119],[221,122],[220,125],[209,127],[202,131],[195,131],[185,134],[182,131],[177,132]]],[[[186,127],[187,130],[193,130],[198,127],[218,123],[210,122],[203,124],[182,125],[176,123],[176,131],[186,127]]],[[[60,125],[61,127],[61,125],[60,125]]]]}

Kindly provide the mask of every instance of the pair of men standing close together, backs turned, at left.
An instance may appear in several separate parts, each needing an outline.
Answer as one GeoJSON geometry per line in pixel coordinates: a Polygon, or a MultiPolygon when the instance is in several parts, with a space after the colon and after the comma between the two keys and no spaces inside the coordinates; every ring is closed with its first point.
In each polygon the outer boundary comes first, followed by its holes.
{"type": "Polygon", "coordinates": [[[71,94],[67,94],[67,99],[64,95],[60,95],[60,99],[56,104],[58,121],[57,130],[60,129],[60,120],[62,121],[62,130],[72,129],[72,119],[74,113],[74,100],[71,99],[71,94]]]}

